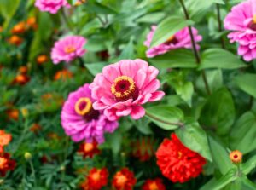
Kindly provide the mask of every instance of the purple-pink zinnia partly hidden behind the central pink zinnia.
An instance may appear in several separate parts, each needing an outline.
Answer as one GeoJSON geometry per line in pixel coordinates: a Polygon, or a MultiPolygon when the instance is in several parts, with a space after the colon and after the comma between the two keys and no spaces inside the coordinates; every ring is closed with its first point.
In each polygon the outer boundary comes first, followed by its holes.
{"type": "Polygon", "coordinates": [[[118,123],[94,110],[89,84],[68,95],[61,111],[61,124],[73,141],[104,142],[104,132],[113,133],[118,123]]]}

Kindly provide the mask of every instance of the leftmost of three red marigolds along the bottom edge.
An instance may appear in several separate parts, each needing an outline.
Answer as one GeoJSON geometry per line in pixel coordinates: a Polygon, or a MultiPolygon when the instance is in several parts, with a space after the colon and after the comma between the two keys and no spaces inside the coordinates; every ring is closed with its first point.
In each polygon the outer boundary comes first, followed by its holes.
{"type": "Polygon", "coordinates": [[[108,170],[106,168],[90,170],[84,183],[81,184],[84,190],[101,190],[108,184],[108,170]]]}

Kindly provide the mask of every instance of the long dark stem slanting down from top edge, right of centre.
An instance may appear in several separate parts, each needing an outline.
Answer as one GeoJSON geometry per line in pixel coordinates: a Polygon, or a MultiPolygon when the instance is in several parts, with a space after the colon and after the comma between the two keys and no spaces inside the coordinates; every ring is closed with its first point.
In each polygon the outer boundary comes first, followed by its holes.
{"type": "MultiPolygon", "coordinates": [[[[189,20],[189,13],[185,7],[185,4],[183,3],[183,0],[179,0],[179,3],[181,4],[181,6],[183,8],[183,13],[185,14],[186,20],[189,20]]],[[[199,52],[196,49],[195,37],[192,32],[192,27],[189,25],[188,28],[189,28],[189,36],[190,36],[192,47],[193,47],[193,52],[195,55],[195,61],[199,65],[201,63],[201,58],[200,58],[199,52]]],[[[210,90],[209,84],[207,82],[207,75],[206,75],[205,71],[202,71],[202,78],[203,78],[203,81],[204,81],[206,89],[207,89],[207,95],[211,95],[211,90],[210,90]]]]}

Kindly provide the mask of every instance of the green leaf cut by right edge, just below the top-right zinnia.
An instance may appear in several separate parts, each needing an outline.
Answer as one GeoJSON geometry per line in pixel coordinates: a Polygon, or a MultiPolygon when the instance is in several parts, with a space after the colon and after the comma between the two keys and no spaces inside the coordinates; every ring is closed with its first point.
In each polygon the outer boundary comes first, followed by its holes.
{"type": "Polygon", "coordinates": [[[243,74],[237,76],[235,78],[235,83],[241,90],[256,98],[256,74],[243,74]]]}

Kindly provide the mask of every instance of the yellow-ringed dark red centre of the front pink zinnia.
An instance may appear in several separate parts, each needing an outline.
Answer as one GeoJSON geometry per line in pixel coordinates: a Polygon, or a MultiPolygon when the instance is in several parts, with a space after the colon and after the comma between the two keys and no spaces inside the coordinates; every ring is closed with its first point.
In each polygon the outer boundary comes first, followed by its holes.
{"type": "Polygon", "coordinates": [[[111,92],[118,101],[126,101],[130,98],[135,98],[136,88],[137,87],[132,78],[120,76],[115,78],[111,86],[111,92]]]}

